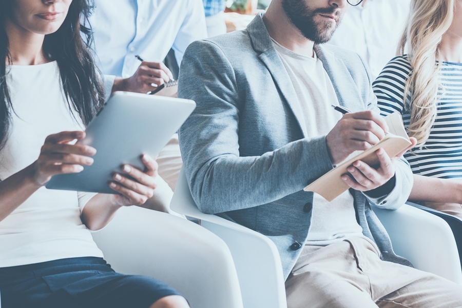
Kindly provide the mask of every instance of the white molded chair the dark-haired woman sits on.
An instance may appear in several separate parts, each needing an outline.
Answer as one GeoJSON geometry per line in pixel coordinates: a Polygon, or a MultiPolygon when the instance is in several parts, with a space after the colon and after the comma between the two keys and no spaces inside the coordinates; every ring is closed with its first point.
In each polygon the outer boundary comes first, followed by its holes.
{"type": "Polygon", "coordinates": [[[92,235],[115,271],[162,280],[180,292],[191,308],[243,307],[227,245],[193,222],[127,207],[92,235]]]}

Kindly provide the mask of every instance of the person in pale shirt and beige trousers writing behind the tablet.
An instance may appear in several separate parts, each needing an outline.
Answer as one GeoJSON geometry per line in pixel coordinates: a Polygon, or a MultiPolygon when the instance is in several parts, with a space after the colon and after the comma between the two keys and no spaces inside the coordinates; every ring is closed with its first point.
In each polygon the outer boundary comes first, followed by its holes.
{"type": "MultiPolygon", "coordinates": [[[[178,69],[186,47],[207,37],[201,0],[95,0],[94,3],[95,10],[88,21],[94,32],[99,67],[105,75],[106,93],[155,90],[174,77],[162,63],[167,54],[171,66],[178,69]]],[[[159,153],[157,161],[158,189],[145,207],[176,215],[169,204],[183,163],[177,134],[159,153]]]]}

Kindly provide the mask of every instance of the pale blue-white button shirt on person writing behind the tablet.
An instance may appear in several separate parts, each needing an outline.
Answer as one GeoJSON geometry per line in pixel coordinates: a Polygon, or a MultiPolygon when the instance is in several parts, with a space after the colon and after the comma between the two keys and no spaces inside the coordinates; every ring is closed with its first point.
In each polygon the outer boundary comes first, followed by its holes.
{"type": "Polygon", "coordinates": [[[201,0],[95,0],[90,17],[94,47],[105,75],[127,78],[141,62],[161,62],[175,50],[181,63],[186,47],[207,37],[201,0]]]}

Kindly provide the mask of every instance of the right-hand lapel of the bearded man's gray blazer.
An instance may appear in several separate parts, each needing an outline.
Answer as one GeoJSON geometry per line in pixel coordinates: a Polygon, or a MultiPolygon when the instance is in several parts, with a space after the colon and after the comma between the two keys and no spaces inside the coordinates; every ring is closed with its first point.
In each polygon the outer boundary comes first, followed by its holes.
{"type": "Polygon", "coordinates": [[[339,104],[353,112],[364,110],[363,99],[343,61],[322,46],[315,45],[314,50],[331,78],[339,104]]]}

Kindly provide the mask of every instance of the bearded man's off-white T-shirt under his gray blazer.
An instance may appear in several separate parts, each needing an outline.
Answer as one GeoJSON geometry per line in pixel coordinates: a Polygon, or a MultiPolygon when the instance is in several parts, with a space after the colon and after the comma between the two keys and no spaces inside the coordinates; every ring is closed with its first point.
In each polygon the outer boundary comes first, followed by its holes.
{"type": "MultiPolygon", "coordinates": [[[[282,63],[297,93],[307,137],[328,134],[342,114],[331,105],[338,105],[334,86],[319,58],[307,57],[273,40],[282,63]]],[[[311,225],[306,245],[325,246],[345,238],[364,237],[356,221],[354,199],[349,191],[331,202],[314,193],[311,225]]]]}

